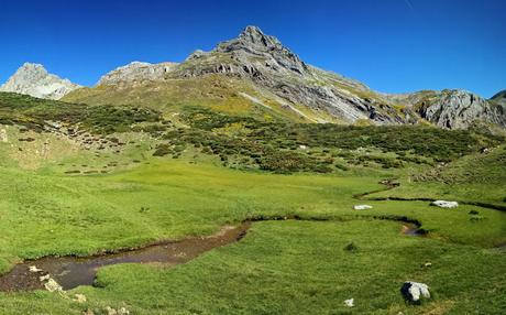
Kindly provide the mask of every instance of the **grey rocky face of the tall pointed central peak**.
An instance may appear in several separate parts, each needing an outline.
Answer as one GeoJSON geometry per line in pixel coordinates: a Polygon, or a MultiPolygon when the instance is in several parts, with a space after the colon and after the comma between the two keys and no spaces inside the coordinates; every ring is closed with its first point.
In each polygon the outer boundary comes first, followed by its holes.
{"type": "Polygon", "coordinates": [[[255,26],[248,26],[237,39],[220,43],[211,52],[191,54],[169,76],[191,78],[208,74],[252,80],[260,90],[276,95],[285,106],[301,105],[324,111],[342,122],[408,121],[363,84],[307,65],[276,37],[255,26]]]}

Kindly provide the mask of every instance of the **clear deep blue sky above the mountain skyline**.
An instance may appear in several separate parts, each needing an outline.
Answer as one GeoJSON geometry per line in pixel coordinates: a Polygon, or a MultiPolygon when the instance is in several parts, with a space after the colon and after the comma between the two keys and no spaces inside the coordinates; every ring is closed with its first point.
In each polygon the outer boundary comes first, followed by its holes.
{"type": "Polygon", "coordinates": [[[92,85],[132,61],[180,62],[248,24],[380,91],[506,88],[504,0],[0,0],[0,82],[35,62],[92,85]]]}

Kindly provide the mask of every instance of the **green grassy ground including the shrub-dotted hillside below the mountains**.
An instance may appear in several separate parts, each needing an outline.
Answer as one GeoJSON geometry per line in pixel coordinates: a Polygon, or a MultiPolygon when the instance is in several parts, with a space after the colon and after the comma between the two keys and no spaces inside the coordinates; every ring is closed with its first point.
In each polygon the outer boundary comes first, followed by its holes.
{"type": "Polygon", "coordinates": [[[177,267],[118,264],[100,269],[94,286],[0,292],[0,314],[108,314],[108,306],[130,314],[506,309],[506,211],[374,199],[504,207],[501,137],[272,124],[195,108],[166,118],[155,109],[2,97],[0,109],[12,99],[25,107],[0,110],[0,273],[26,259],[208,236],[252,218],[300,220],[255,221],[244,239],[177,267]],[[47,108],[64,127],[44,129],[47,108]],[[400,186],[385,191],[383,180],[400,186]],[[358,199],[367,192],[376,193],[358,199]],[[359,204],[373,208],[354,210],[359,204]],[[403,235],[399,219],[419,221],[428,235],[403,235]],[[351,243],[355,250],[346,250],[351,243]],[[432,298],[406,304],[405,281],[427,283],[432,298]]]}

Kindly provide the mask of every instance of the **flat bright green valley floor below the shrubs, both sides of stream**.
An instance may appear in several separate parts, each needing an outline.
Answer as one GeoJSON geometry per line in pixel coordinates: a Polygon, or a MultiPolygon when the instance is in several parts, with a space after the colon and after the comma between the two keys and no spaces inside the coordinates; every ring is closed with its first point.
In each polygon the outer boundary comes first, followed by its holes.
{"type": "Polygon", "coordinates": [[[106,267],[95,286],[0,293],[0,314],[107,314],[108,307],[130,314],[504,314],[506,213],[371,199],[451,197],[505,206],[496,197],[503,188],[469,195],[462,185],[447,192],[451,186],[408,183],[400,174],[400,187],[354,197],[384,189],[378,182],[394,175],[280,175],[158,158],[87,176],[2,167],[1,273],[22,259],[211,235],[249,218],[308,220],[254,222],[241,241],[177,267],[106,267]],[[354,210],[358,204],[373,208],[354,210]],[[418,220],[428,236],[403,235],[402,222],[392,220],[399,217],[418,220]],[[427,283],[433,298],[406,304],[404,281],[427,283]],[[348,298],[354,307],[344,305],[348,298]]]}

